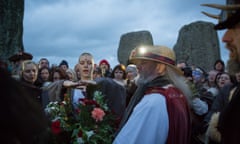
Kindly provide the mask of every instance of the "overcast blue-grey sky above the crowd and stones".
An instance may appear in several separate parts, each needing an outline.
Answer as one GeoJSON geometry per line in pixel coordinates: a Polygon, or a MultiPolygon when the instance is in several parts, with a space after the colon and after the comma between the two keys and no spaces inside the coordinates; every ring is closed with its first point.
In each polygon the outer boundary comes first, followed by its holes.
{"type": "MultiPolygon", "coordinates": [[[[45,57],[58,65],[65,59],[73,68],[81,53],[90,52],[96,63],[107,59],[114,67],[125,33],[148,30],[154,44],[172,48],[184,25],[217,23],[201,11],[219,11],[200,6],[203,3],[225,0],[25,0],[24,48],[36,62],[45,57]]],[[[223,32],[218,32],[220,40],[223,32]]],[[[221,47],[226,60],[228,53],[221,47]]]]}

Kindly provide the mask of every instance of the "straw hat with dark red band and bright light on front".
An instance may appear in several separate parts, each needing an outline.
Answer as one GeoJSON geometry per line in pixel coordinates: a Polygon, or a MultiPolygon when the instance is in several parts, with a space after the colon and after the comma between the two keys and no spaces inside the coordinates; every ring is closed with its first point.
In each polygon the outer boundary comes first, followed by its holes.
{"type": "Polygon", "coordinates": [[[132,63],[135,63],[136,60],[151,60],[164,63],[182,74],[181,70],[176,67],[174,51],[165,46],[137,47],[132,50],[129,60],[132,63]]]}

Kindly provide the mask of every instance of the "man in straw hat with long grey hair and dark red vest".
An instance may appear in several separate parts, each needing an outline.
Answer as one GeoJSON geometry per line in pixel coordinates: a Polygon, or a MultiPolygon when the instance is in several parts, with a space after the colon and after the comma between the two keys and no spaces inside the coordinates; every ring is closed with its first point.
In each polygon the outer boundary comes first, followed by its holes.
{"type": "Polygon", "coordinates": [[[188,144],[190,91],[174,52],[165,46],[132,50],[138,88],[124,113],[114,144],[188,144]]]}

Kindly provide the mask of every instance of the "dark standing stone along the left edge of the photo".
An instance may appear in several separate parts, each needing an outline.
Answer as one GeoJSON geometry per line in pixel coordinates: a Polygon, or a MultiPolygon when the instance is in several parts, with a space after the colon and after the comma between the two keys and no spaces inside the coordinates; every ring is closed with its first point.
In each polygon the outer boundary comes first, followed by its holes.
{"type": "Polygon", "coordinates": [[[0,58],[23,51],[24,0],[0,0],[0,58]]]}

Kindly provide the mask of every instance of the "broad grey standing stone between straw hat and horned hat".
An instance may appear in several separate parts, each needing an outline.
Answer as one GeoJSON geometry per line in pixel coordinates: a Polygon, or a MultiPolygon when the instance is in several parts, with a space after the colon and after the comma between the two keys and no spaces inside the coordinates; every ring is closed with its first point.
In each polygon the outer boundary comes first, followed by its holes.
{"type": "Polygon", "coordinates": [[[213,69],[214,62],[220,59],[219,39],[214,24],[197,21],[181,28],[173,50],[177,62],[213,69]]]}

